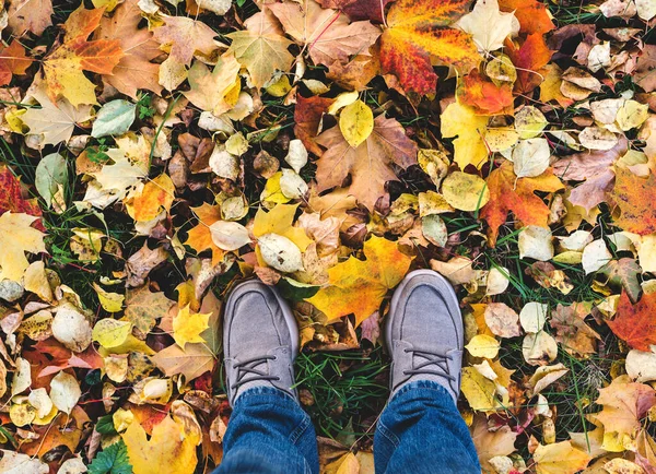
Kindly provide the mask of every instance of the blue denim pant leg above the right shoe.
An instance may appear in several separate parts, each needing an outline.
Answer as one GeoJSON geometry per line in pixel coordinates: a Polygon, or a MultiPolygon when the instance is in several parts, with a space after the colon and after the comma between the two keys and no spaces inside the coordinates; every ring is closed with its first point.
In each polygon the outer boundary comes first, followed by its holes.
{"type": "Polygon", "coordinates": [[[410,382],[394,395],[374,438],[376,474],[480,474],[473,441],[438,383],[410,382]]]}

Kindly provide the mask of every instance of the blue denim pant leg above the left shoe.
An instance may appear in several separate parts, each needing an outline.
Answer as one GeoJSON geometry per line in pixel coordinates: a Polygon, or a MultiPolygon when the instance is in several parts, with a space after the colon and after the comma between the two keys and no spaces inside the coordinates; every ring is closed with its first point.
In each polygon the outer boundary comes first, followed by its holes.
{"type": "Polygon", "coordinates": [[[272,387],[246,390],[235,402],[213,474],[318,474],[317,440],[307,413],[272,387]]]}

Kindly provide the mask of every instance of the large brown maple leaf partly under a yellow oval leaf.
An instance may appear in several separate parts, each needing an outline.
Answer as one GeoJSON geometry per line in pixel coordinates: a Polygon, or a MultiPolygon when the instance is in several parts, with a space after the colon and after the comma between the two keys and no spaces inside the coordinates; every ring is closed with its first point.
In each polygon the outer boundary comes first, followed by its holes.
{"type": "Polygon", "coordinates": [[[385,182],[397,179],[393,163],[403,169],[417,164],[417,144],[406,137],[399,122],[384,115],[375,118],[374,130],[355,149],[338,126],[323,132],[316,142],[326,147],[317,161],[318,191],[339,187],[351,175],[349,192],[370,210],[385,193],[385,182]]]}

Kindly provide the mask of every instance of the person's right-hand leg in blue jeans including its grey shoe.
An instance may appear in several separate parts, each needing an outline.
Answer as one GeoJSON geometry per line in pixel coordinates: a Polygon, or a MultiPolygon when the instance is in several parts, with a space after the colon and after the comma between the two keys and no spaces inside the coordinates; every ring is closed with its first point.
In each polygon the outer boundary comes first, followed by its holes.
{"type": "Polygon", "coordinates": [[[376,473],[480,474],[456,407],[464,330],[453,287],[430,270],[412,272],[387,318],[391,395],[374,438],[376,473]]]}

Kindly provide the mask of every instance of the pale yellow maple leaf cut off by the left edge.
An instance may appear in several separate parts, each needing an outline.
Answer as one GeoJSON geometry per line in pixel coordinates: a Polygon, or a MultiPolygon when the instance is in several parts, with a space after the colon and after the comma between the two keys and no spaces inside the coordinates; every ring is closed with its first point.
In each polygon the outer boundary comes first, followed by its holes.
{"type": "Polygon", "coordinates": [[[38,217],[11,211],[0,215],[0,281],[20,281],[30,266],[25,252],[45,252],[44,234],[31,227],[38,217]]]}

